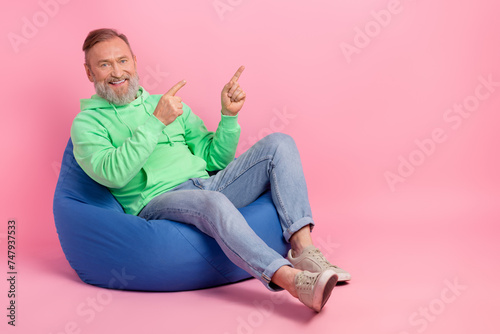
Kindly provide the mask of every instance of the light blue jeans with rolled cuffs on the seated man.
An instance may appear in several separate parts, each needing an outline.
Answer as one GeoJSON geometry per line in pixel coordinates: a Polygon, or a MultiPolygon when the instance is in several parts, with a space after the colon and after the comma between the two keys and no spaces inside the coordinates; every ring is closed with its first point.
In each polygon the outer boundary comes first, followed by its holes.
{"type": "Polygon", "coordinates": [[[269,188],[287,242],[302,227],[312,228],[299,152],[294,140],[281,133],[261,139],[216,175],[190,179],[156,196],[139,216],[196,226],[214,238],[234,264],[270,290],[281,290],[271,278],[290,262],[267,246],[237,210],[269,188]]]}

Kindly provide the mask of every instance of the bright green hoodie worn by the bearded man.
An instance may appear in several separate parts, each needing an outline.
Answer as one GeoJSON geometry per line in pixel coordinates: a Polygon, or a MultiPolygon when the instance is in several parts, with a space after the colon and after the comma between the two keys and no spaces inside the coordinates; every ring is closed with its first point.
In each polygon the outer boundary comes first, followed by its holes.
{"type": "Polygon", "coordinates": [[[71,126],[76,161],[129,214],[190,178],[225,168],[238,145],[237,116],[222,115],[214,133],[183,104],[183,114],[165,126],[153,115],[160,98],[142,87],[124,106],[93,95],[80,101],[71,126]]]}

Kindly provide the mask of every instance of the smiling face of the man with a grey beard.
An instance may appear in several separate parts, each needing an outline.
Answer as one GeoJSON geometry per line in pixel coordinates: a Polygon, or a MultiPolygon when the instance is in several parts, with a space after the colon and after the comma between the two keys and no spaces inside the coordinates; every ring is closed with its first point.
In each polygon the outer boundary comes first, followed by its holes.
{"type": "Polygon", "coordinates": [[[85,70],[97,95],[116,105],[135,100],[139,90],[136,58],[121,38],[94,45],[87,54],[85,70]]]}

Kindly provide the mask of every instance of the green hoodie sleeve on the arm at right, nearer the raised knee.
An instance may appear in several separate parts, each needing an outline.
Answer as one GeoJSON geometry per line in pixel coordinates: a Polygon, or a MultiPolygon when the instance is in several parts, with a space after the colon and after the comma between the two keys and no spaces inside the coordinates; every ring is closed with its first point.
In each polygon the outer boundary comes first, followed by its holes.
{"type": "Polygon", "coordinates": [[[188,147],[194,155],[207,162],[208,171],[224,169],[234,160],[241,132],[238,116],[226,116],[221,113],[217,131],[210,132],[189,107],[184,108],[184,115],[188,147]]]}

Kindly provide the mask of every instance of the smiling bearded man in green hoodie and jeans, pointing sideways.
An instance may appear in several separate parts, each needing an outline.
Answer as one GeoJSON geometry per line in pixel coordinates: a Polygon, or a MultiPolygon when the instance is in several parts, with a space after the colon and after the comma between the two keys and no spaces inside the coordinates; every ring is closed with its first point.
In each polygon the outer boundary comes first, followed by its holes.
{"type": "Polygon", "coordinates": [[[312,244],[314,222],[300,157],[284,134],[260,140],[234,160],[246,100],[240,67],[221,93],[221,121],[209,132],[177,96],[139,85],[128,39],[112,29],[91,31],[83,45],[85,71],[96,95],[81,100],[71,137],[83,170],[108,187],[126,213],[192,224],[213,237],[236,265],[270,290],[285,289],[319,312],[337,280],[350,275],[312,244]],[[221,170],[214,176],[207,171],[221,170]],[[287,259],[268,247],[237,208],[271,188],[287,259]]]}

